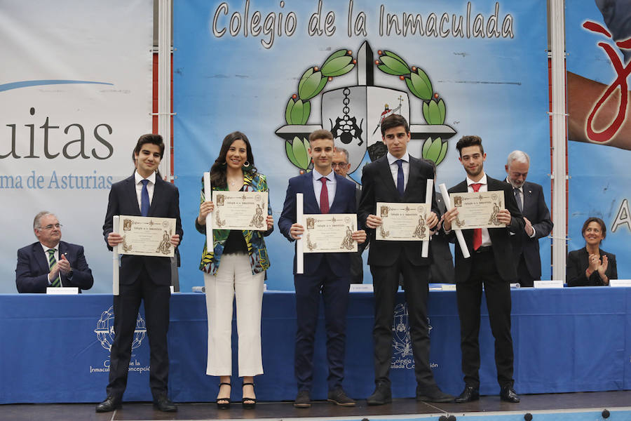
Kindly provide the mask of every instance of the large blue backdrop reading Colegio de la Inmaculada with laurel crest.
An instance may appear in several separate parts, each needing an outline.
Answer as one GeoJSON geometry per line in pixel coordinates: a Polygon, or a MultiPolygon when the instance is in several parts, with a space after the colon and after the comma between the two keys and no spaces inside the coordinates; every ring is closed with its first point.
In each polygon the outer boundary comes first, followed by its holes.
{"type": "MultiPolygon", "coordinates": [[[[268,176],[276,221],[287,180],[311,171],[306,138],[334,133],[350,178],[383,156],[379,121],[404,115],[413,156],[437,162],[437,182],[463,180],[456,141],[480,135],[486,171],[506,178],[514,149],[549,201],[545,1],[177,1],[174,4],[175,174],[182,223],[194,232],[203,171],[224,136],[243,131],[268,176]]],[[[202,285],[205,237],[182,245],[182,290],[202,285]]],[[[549,279],[548,240],[542,240],[549,279]]],[[[294,246],[266,237],[269,288],[293,289],[294,246]]],[[[365,270],[365,281],[370,282],[365,270]]]]}

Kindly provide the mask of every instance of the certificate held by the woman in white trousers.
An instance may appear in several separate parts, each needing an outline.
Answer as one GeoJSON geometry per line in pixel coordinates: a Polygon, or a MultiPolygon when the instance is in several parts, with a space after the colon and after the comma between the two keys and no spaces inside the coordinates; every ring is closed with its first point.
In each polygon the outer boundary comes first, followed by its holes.
{"type": "Polygon", "coordinates": [[[213,229],[267,231],[267,192],[212,192],[213,229]]]}

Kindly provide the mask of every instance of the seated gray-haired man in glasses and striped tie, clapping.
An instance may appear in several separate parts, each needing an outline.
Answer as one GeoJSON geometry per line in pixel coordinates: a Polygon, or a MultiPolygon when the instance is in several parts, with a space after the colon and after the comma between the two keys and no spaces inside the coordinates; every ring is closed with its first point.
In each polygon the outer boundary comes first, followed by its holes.
{"type": "Polygon", "coordinates": [[[61,241],[62,225],[46,210],[35,215],[35,243],[18,250],[15,285],[18,293],[46,293],[48,287],[92,288],[94,278],[83,247],[61,241]]]}

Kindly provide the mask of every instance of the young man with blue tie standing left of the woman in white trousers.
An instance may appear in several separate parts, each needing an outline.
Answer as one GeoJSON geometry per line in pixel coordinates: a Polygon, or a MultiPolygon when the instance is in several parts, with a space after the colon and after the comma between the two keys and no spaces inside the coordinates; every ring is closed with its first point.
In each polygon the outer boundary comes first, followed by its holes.
{"type": "MultiPolygon", "coordinates": [[[[163,153],[164,142],[161,135],[140,136],[134,149],[136,171],[131,177],[111,186],[103,225],[104,239],[110,250],[123,242],[121,234],[113,232],[114,215],[175,218],[175,234],[170,237],[170,242],[177,247],[182,241],[179,192],[170,182],[162,180],[158,173],[158,164],[163,153]]],[[[149,386],[154,396],[154,406],[164,412],[177,410],[177,406],[168,398],[167,389],[170,284],[169,258],[139,255],[123,255],[121,258],[120,294],[114,295],[116,338],[109,354],[107,399],[97,405],[97,412],[109,412],[120,408],[123,401],[141,300],[144,300],[144,314],[147,318],[151,354],[149,386]]]]}

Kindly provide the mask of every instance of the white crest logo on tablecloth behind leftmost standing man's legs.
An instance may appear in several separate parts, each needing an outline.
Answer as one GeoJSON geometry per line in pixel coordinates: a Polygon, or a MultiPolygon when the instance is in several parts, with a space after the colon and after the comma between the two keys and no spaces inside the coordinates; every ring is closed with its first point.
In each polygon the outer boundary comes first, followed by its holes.
{"type": "MultiPolygon", "coordinates": [[[[116,337],[116,332],[114,331],[114,306],[110,306],[109,309],[101,313],[94,333],[96,333],[97,339],[101,342],[103,349],[106,349],[107,352],[109,352],[111,350],[111,344],[114,342],[114,338],[116,337]]],[[[129,363],[130,372],[149,372],[149,365],[142,364],[140,361],[135,359],[135,354],[133,354],[133,350],[142,345],[142,340],[144,340],[146,335],[147,325],[142,317],[142,314],[138,313],[136,328],[134,330],[134,340],[132,342],[132,357],[129,363]]],[[[100,367],[90,366],[90,373],[109,373],[109,354],[100,367]]]]}

